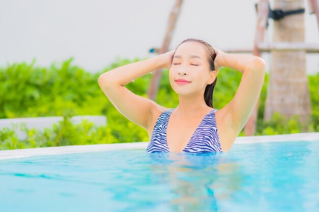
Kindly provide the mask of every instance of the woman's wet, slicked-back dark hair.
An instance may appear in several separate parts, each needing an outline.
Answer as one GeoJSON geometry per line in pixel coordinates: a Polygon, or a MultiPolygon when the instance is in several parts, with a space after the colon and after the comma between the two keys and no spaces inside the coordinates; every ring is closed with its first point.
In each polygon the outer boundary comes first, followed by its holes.
{"type": "MultiPolygon", "coordinates": [[[[216,57],[216,52],[211,47],[211,45],[208,44],[205,41],[202,41],[202,40],[199,40],[199,39],[195,39],[195,38],[189,38],[189,39],[183,40],[180,44],[185,43],[185,42],[190,42],[190,41],[198,42],[198,43],[201,43],[201,44],[203,44],[205,46],[205,48],[207,50],[207,54],[208,54],[208,58],[207,59],[208,59],[210,71],[214,71],[215,70],[214,59],[216,57]]],[[[178,46],[180,44],[178,44],[178,46]]],[[[176,49],[178,48],[178,46],[176,47],[176,49]]],[[[174,52],[174,54],[175,54],[175,52],[174,52]]],[[[216,85],[216,82],[217,82],[217,77],[216,77],[214,82],[212,82],[211,84],[206,86],[205,92],[204,92],[204,100],[206,102],[206,105],[208,105],[211,108],[212,108],[212,93],[214,92],[214,87],[216,85]]]]}

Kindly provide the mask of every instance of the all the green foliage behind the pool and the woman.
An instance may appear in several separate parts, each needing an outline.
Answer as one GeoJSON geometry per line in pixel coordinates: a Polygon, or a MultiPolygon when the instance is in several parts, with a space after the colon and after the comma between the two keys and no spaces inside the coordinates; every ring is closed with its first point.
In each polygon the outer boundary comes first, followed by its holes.
{"type": "MultiPolygon", "coordinates": [[[[35,67],[31,64],[12,64],[0,68],[0,118],[64,116],[64,120],[51,129],[39,132],[34,129],[23,131],[28,135],[19,140],[16,129],[0,130],[0,149],[30,148],[60,145],[79,145],[97,143],[119,143],[148,141],[143,128],[125,118],[105,97],[98,86],[100,74],[140,59],[120,59],[105,68],[101,73],[91,74],[73,66],[72,58],[61,67],[35,67]],[[95,127],[83,122],[74,125],[69,117],[73,115],[106,115],[107,126],[95,127]]],[[[214,108],[224,107],[235,95],[242,74],[238,71],[222,68],[214,90],[214,108]]],[[[159,82],[155,101],[159,105],[173,108],[178,105],[178,96],[169,82],[169,72],[164,70],[159,82]]],[[[133,93],[146,97],[151,74],[144,75],[125,87],[133,93]]],[[[259,99],[257,135],[275,135],[301,132],[298,117],[285,119],[275,113],[269,122],[263,122],[263,111],[267,95],[268,74],[259,99]]],[[[319,132],[319,73],[309,76],[309,90],[312,106],[312,122],[309,131],[319,132]]],[[[240,133],[243,136],[244,132],[240,133]]]]}

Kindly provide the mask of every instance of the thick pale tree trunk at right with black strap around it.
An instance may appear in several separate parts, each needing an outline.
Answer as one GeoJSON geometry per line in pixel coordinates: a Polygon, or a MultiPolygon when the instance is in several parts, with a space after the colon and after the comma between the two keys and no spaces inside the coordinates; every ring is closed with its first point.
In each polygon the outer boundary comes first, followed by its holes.
{"type": "MultiPolygon", "coordinates": [[[[275,0],[275,8],[283,11],[304,8],[303,0],[275,0]]],[[[294,14],[274,21],[274,42],[301,42],[305,40],[304,14],[294,14]]],[[[264,120],[269,120],[274,112],[285,117],[299,115],[302,131],[310,124],[311,106],[306,73],[306,51],[273,49],[271,72],[264,120]]]]}

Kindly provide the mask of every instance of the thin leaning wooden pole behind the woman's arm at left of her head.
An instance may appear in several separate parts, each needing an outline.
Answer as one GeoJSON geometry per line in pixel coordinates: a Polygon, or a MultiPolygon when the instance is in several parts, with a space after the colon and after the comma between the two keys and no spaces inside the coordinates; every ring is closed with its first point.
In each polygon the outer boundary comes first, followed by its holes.
{"type": "MultiPolygon", "coordinates": [[[[169,44],[171,42],[171,38],[174,32],[175,24],[177,21],[177,17],[180,13],[180,8],[183,3],[183,0],[176,0],[175,5],[171,11],[170,19],[169,19],[169,24],[167,27],[165,39],[163,42],[163,46],[161,50],[159,51],[159,54],[163,54],[168,51],[169,44]]],[[[148,88],[148,93],[147,96],[149,99],[154,100],[155,96],[157,94],[158,86],[159,86],[159,80],[161,79],[162,76],[162,69],[155,70],[152,72],[152,79],[150,86],[148,88]]]]}

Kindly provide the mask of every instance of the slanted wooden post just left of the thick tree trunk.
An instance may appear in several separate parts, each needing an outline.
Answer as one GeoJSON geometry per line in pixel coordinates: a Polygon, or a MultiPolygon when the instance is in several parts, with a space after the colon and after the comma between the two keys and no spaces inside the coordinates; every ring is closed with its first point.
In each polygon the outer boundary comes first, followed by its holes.
{"type": "MultiPolygon", "coordinates": [[[[259,0],[257,5],[257,24],[256,24],[256,34],[255,34],[255,43],[253,54],[255,56],[261,56],[261,52],[258,49],[258,45],[264,41],[264,34],[266,30],[266,24],[268,19],[268,0],[259,0]]],[[[246,136],[253,136],[256,132],[256,123],[258,117],[258,107],[259,107],[259,99],[256,103],[253,113],[248,119],[244,132],[246,136]]]]}

